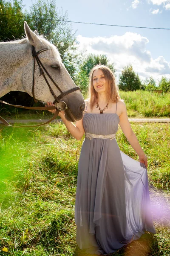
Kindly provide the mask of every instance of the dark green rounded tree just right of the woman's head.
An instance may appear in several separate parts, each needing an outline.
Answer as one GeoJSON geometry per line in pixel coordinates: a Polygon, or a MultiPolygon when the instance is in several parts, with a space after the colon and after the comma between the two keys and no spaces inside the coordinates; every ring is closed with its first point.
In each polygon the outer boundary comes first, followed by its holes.
{"type": "Polygon", "coordinates": [[[124,91],[141,89],[140,78],[134,72],[132,65],[126,66],[122,70],[122,75],[119,77],[119,89],[124,91]]]}

